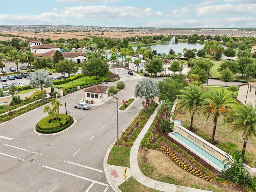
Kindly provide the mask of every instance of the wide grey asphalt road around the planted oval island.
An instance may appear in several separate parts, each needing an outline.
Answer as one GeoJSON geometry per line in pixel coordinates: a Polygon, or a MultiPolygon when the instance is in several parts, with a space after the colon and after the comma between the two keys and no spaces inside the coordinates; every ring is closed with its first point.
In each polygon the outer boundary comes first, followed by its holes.
{"type": "MultiPolygon", "coordinates": [[[[133,95],[136,76],[126,78],[118,105],[133,95]]],[[[116,82],[106,84],[115,85],[116,82]]],[[[77,119],[74,128],[56,136],[37,136],[32,128],[47,116],[43,108],[1,124],[0,191],[112,192],[103,172],[106,150],[116,138],[116,99],[90,110],[75,109],[83,90],[60,98],[60,112],[77,119]],[[8,138],[12,140],[8,140],[8,138]]],[[[126,112],[119,112],[119,132],[141,108],[138,99],[126,112]]]]}

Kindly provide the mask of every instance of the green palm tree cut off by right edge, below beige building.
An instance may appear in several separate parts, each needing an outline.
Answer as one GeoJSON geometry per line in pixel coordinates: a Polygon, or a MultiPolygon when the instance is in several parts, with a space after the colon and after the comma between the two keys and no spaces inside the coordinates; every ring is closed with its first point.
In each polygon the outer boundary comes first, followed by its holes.
{"type": "Polygon", "coordinates": [[[256,136],[256,107],[253,107],[251,103],[240,105],[234,109],[232,117],[234,117],[234,120],[228,124],[228,128],[232,131],[242,132],[242,138],[244,139],[242,157],[244,158],[248,140],[252,136],[256,136]]]}

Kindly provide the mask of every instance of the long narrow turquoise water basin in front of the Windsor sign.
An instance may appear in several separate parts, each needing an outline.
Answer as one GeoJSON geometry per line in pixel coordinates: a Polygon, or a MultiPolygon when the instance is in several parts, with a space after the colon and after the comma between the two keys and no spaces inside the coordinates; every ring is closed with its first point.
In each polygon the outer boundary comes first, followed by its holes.
{"type": "Polygon", "coordinates": [[[194,144],[193,142],[191,142],[190,140],[188,140],[187,138],[185,138],[184,136],[182,136],[178,132],[174,132],[174,133],[171,133],[171,134],[174,137],[176,137],[178,140],[180,140],[181,142],[183,142],[184,144],[186,144],[187,146],[192,148],[192,150],[194,150],[195,152],[200,154],[203,158],[205,158],[209,162],[212,162],[212,164],[216,165],[221,170],[224,170],[224,165],[225,164],[222,163],[220,160],[218,160],[217,158],[215,158],[214,156],[212,156],[211,154],[209,154],[208,152],[206,152],[202,148],[198,147],[196,144],[194,144]]]}

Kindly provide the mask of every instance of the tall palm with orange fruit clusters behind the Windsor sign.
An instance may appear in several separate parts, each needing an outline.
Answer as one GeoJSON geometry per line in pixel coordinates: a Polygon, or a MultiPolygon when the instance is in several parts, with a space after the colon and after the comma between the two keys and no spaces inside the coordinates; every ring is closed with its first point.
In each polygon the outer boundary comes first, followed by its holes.
{"type": "Polygon", "coordinates": [[[213,132],[211,143],[214,142],[214,136],[216,132],[216,127],[218,119],[226,115],[226,112],[230,110],[230,104],[235,103],[229,100],[230,96],[226,96],[224,90],[217,91],[213,90],[208,92],[206,99],[199,106],[199,112],[206,115],[206,120],[213,120],[213,132]]]}

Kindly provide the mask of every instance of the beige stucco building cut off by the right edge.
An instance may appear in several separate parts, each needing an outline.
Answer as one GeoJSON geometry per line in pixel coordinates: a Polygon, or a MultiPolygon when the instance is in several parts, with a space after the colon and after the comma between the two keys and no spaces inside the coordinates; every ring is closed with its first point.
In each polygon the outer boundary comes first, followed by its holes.
{"type": "Polygon", "coordinates": [[[251,103],[252,106],[256,105],[256,82],[248,82],[238,85],[237,100],[242,104],[251,103]]]}

